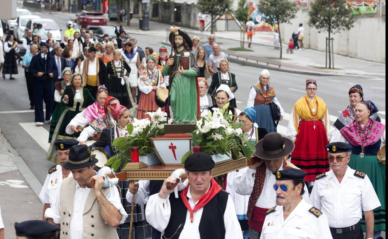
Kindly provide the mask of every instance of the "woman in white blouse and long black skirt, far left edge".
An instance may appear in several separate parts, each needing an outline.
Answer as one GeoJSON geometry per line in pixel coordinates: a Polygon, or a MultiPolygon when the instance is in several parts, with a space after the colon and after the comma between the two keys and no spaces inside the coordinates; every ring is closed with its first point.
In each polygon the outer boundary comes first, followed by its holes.
{"type": "Polygon", "coordinates": [[[3,65],[3,78],[5,79],[5,75],[9,74],[9,79],[14,80],[12,77],[13,74],[17,74],[17,63],[16,63],[16,54],[20,52],[19,47],[17,46],[17,42],[14,41],[13,35],[7,35],[4,43],[4,65],[3,65]]]}

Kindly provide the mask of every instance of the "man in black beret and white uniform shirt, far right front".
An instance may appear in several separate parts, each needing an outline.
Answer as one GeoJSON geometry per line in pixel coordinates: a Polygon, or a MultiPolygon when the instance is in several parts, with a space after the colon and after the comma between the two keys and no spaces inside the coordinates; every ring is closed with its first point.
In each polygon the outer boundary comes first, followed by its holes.
{"type": "Polygon", "coordinates": [[[352,146],[343,142],[326,145],[330,171],[317,175],[310,204],[329,218],[334,239],[363,239],[360,220],[365,215],[366,238],[374,237],[373,209],[381,206],[369,177],[348,166],[352,146]]]}

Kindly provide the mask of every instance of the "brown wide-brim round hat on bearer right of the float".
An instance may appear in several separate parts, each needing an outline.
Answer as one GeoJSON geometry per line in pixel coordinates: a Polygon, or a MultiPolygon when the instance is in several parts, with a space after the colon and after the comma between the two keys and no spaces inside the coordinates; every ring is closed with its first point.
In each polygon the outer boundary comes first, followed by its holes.
{"type": "Polygon", "coordinates": [[[295,148],[293,141],[279,133],[269,133],[255,145],[255,156],[262,159],[274,160],[284,158],[295,148]]]}

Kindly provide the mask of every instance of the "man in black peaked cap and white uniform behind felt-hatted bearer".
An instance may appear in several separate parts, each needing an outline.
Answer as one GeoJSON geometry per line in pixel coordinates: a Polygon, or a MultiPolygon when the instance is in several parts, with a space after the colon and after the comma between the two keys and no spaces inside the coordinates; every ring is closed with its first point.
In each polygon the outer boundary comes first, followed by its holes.
{"type": "Polygon", "coordinates": [[[49,223],[54,224],[52,221],[53,216],[51,208],[55,208],[55,203],[59,197],[63,179],[73,177],[70,170],[63,168],[62,166],[69,160],[71,146],[78,143],[80,142],[74,139],[57,139],[54,142],[54,145],[57,146],[58,149],[59,164],[49,169],[49,174],[47,174],[45,184],[39,194],[39,198],[45,203],[43,207],[43,221],[47,221],[47,218],[49,218],[49,223]],[[47,210],[48,208],[50,209],[47,210]]]}

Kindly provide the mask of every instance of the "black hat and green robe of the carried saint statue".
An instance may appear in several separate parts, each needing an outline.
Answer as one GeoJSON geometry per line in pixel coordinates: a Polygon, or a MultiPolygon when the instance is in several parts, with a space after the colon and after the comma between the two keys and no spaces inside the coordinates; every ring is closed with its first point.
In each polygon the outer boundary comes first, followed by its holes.
{"type": "MultiPolygon", "coordinates": [[[[175,31],[170,33],[169,40],[173,44],[173,38],[175,37],[175,31]]],[[[198,66],[193,53],[191,53],[192,40],[186,31],[179,29],[178,35],[184,38],[184,42],[189,44],[190,49],[183,49],[178,52],[175,49],[169,58],[174,58],[174,64],[170,67],[165,65],[163,67],[163,75],[170,76],[172,83],[170,84],[170,98],[169,105],[173,113],[173,121],[175,123],[189,122],[193,123],[197,121],[197,115],[201,114],[199,108],[199,93],[198,82],[196,76],[198,75],[198,66]],[[178,72],[178,56],[190,57],[190,69],[185,70],[184,74],[178,72]]]]}

